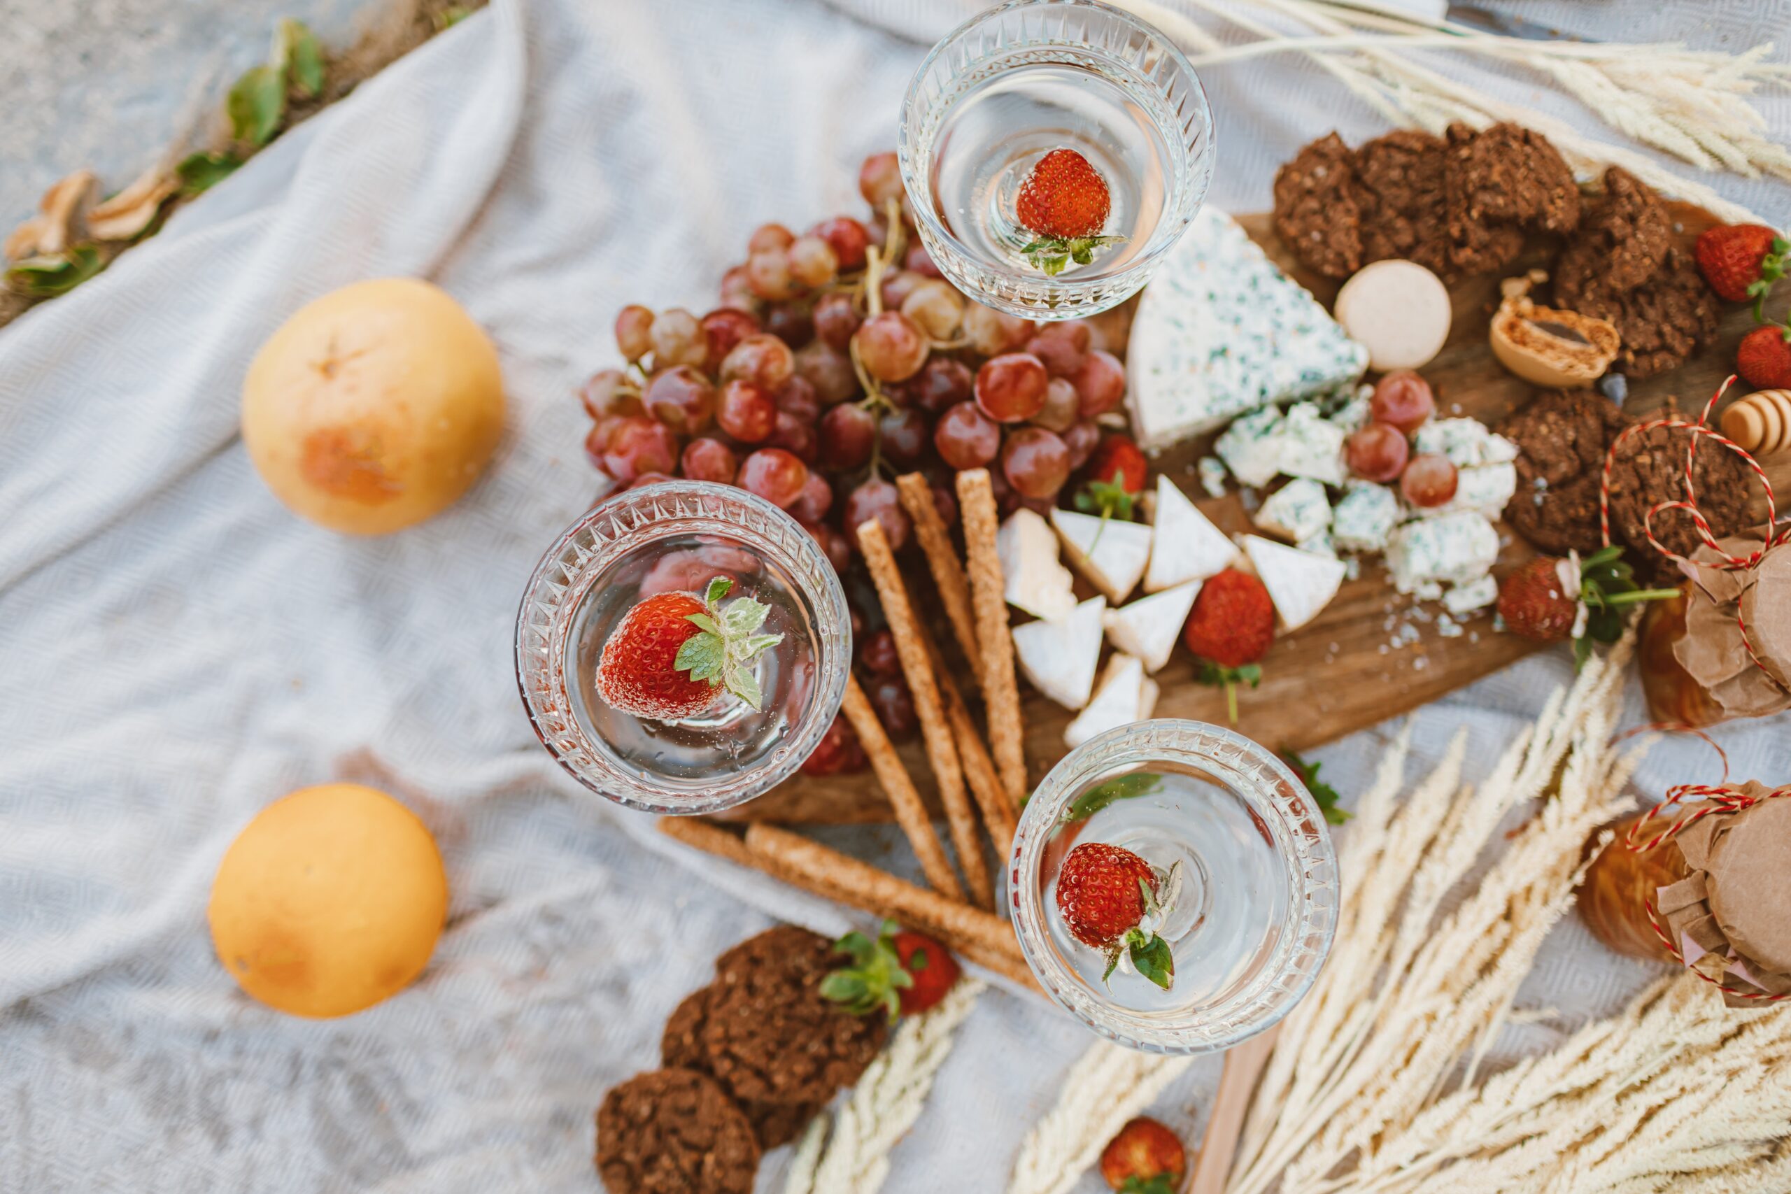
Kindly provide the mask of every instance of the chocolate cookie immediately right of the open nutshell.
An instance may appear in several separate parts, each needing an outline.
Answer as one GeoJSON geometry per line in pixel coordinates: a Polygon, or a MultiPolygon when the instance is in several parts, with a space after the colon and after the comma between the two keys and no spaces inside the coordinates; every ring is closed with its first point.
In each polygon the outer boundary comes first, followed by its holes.
{"type": "Polygon", "coordinates": [[[1667,249],[1655,276],[1633,290],[1617,290],[1608,274],[1562,274],[1558,306],[1608,319],[1623,337],[1617,360],[1632,378],[1678,369],[1716,335],[1716,297],[1691,256],[1667,249]]]}

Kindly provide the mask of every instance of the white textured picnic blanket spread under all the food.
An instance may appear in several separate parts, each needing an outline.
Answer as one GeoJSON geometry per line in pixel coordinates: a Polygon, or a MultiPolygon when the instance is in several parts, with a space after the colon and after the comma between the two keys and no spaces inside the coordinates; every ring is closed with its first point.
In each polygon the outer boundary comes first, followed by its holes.
{"type": "MultiPolygon", "coordinates": [[[[856,211],[858,161],[894,143],[926,43],[971,7],[500,0],[0,331],[0,1192],[591,1190],[596,1101],[656,1065],[664,1015],[711,958],[772,917],[847,924],[682,865],[559,773],[516,696],[512,618],[593,492],[571,388],[611,363],[614,310],[702,310],[756,224],[856,211]],[[491,329],[510,421],[466,499],[360,541],[269,496],[236,401],[292,310],[385,274],[433,277],[491,329]],[[256,809],[331,779],[423,814],[453,909],[414,988],[308,1022],[236,990],[204,900],[256,809]]],[[[1608,5],[1510,7],[1615,23],[1608,5]]],[[[1770,32],[1759,5],[1644,7],[1623,34],[1770,32]]],[[[1211,200],[1230,209],[1264,208],[1300,141],[1379,131],[1298,59],[1216,68],[1209,90],[1211,200]]],[[[1771,111],[1784,136],[1786,106],[1771,111]]],[[[1782,186],[1725,190],[1784,209],[1782,186]]],[[[1418,755],[1467,725],[1470,757],[1494,757],[1567,675],[1556,653],[1420,711],[1418,755]]],[[[1349,793],[1379,741],[1318,752],[1327,777],[1349,793]]],[[[1791,768],[1782,723],[1723,741],[1739,775],[1791,768]]],[[[1660,748],[1644,789],[1707,775],[1700,750],[1660,748]]],[[[899,854],[888,831],[824,836],[899,854]]],[[[1564,925],[1526,990],[1565,1024],[1644,976],[1576,965],[1583,949],[1564,925]]],[[[985,995],[885,1189],[1001,1189],[1091,1040],[1028,997],[985,995]]],[[[1216,1058],[1193,1067],[1161,1113],[1193,1130],[1216,1074],[1216,1058]]]]}

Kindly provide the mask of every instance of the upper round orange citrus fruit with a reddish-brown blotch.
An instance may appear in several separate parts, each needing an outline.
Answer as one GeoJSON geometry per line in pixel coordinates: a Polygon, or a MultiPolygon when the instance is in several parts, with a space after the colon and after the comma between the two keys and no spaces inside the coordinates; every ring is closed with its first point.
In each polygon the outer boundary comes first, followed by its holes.
{"type": "Polygon", "coordinates": [[[242,439],[292,512],[351,535],[421,523],[464,494],[503,431],[498,351],[444,290],[342,286],[254,354],[242,439]]]}

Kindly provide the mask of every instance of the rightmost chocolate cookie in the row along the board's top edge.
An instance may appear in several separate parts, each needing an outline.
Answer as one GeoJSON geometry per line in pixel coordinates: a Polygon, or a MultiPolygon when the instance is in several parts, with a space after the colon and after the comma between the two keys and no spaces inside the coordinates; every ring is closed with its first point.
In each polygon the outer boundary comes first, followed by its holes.
{"type": "Polygon", "coordinates": [[[1495,124],[1476,132],[1449,125],[1444,184],[1451,231],[1463,224],[1521,224],[1571,233],[1580,224],[1580,188],[1560,150],[1535,129],[1495,124]]]}

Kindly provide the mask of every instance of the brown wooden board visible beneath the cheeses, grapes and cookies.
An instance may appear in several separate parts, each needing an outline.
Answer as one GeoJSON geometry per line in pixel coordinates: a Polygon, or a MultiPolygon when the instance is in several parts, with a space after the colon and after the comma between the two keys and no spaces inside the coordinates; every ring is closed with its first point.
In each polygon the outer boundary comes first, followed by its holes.
{"type": "MultiPolygon", "coordinates": [[[[1689,245],[1716,218],[1701,208],[1673,204],[1682,238],[1689,245]]],[[[1338,283],[1302,269],[1275,238],[1268,215],[1239,217],[1243,227],[1288,274],[1329,306],[1338,283]]],[[[1546,245],[1530,252],[1504,276],[1517,276],[1531,265],[1544,265],[1546,245]]],[[[1487,328],[1499,306],[1499,277],[1472,277],[1451,286],[1454,328],[1444,351],[1424,367],[1436,392],[1438,415],[1472,415],[1487,424],[1531,399],[1535,387],[1506,372],[1492,356],[1487,328]]],[[[1128,319],[1128,313],[1119,313],[1128,319]]],[[[1632,383],[1624,408],[1630,414],[1653,412],[1676,397],[1680,408],[1696,415],[1716,387],[1728,376],[1735,344],[1753,326],[1746,308],[1725,311],[1716,344],[1682,369],[1632,383]]],[[[1737,394],[1748,387],[1737,383],[1737,394]]],[[[1168,473],[1200,508],[1227,532],[1252,530],[1238,494],[1202,498],[1193,464],[1211,451],[1213,437],[1180,444],[1152,464],[1168,473]]],[[[1773,462],[1778,492],[1791,492],[1791,462],[1773,462]]],[[[1499,573],[1535,551],[1515,532],[1501,526],[1499,573]]],[[[1076,596],[1093,596],[1078,578],[1076,596]]],[[[921,607],[931,605],[935,639],[949,644],[951,634],[938,618],[933,585],[919,562],[910,569],[910,589],[921,607]]],[[[1444,637],[1436,632],[1440,603],[1429,601],[1413,612],[1415,601],[1393,593],[1379,560],[1363,560],[1361,575],[1345,582],[1336,600],[1295,634],[1275,639],[1263,661],[1263,684],[1239,693],[1238,729],[1273,750],[1306,750],[1367,729],[1417,705],[1512,664],[1537,650],[1533,643],[1492,628],[1492,612],[1460,619],[1463,634],[1444,637]],[[1426,616],[1427,614],[1427,616],[1426,616]],[[1415,641],[1404,641],[1411,630],[1415,641]]],[[[1225,723],[1225,698],[1216,687],[1195,680],[1195,662],[1178,650],[1157,673],[1162,696],[1159,718],[1191,718],[1225,723]]],[[[1026,712],[1026,759],[1037,782],[1066,754],[1064,727],[1075,716],[1021,684],[1026,712]]],[[[933,777],[919,743],[903,746],[903,759],[922,795],[933,800],[933,777]]],[[[799,777],[734,809],[736,820],[774,820],[788,823],[840,823],[890,820],[888,802],[870,772],[847,777],[799,777]]]]}

